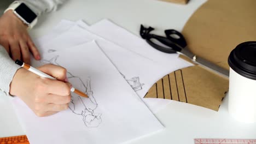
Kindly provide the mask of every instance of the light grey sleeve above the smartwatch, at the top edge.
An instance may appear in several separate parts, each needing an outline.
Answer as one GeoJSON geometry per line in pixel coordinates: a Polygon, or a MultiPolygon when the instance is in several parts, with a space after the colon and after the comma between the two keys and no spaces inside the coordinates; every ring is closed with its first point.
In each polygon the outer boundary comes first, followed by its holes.
{"type": "Polygon", "coordinates": [[[67,0],[20,0],[24,2],[29,8],[31,8],[34,13],[38,16],[43,13],[48,13],[50,11],[57,10],[60,4],[67,0]]]}

